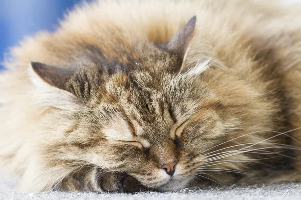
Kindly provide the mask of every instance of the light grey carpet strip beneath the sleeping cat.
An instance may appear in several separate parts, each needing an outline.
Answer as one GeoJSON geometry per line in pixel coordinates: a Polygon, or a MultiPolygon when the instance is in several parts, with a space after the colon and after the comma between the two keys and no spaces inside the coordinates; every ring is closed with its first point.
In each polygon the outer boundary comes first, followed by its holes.
{"type": "MultiPolygon", "coordinates": [[[[1,188],[1,187],[0,187],[1,188]]],[[[254,186],[233,186],[229,188],[186,188],[178,192],[140,192],[135,194],[97,194],[84,192],[44,192],[44,193],[16,193],[12,191],[0,192],[0,199],[264,199],[264,200],[285,200],[301,199],[301,184],[289,183],[278,185],[254,185],[254,186]]]]}

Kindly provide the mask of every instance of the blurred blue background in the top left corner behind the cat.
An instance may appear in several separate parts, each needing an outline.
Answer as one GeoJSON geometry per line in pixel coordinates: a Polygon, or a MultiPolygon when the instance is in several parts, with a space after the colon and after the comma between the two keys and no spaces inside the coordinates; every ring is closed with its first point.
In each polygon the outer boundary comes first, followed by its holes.
{"type": "MultiPolygon", "coordinates": [[[[9,47],[18,45],[25,36],[39,30],[53,31],[64,12],[82,1],[0,0],[0,62],[9,47]]],[[[0,69],[3,69],[2,65],[0,69]]]]}

